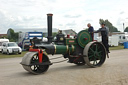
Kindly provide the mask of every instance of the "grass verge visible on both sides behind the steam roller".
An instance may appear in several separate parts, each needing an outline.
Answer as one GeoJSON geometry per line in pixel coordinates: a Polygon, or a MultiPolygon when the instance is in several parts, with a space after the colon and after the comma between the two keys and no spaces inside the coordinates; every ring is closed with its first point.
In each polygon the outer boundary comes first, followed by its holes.
{"type": "MultiPolygon", "coordinates": [[[[111,50],[120,50],[120,49],[124,49],[124,46],[110,47],[109,49],[110,49],[110,51],[111,50]]],[[[28,51],[23,51],[22,54],[11,54],[11,55],[0,53],[0,59],[2,59],[2,58],[23,57],[25,55],[25,53],[27,53],[27,52],[28,51]]]]}

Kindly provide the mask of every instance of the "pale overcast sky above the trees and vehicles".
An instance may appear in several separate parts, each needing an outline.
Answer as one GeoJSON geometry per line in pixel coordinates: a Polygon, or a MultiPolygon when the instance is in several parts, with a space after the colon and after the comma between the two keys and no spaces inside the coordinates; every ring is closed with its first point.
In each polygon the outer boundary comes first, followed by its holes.
{"type": "Polygon", "coordinates": [[[8,28],[47,28],[47,13],[53,13],[53,28],[80,31],[99,19],[108,19],[118,30],[128,26],[128,0],[0,0],[0,34],[8,28]]]}

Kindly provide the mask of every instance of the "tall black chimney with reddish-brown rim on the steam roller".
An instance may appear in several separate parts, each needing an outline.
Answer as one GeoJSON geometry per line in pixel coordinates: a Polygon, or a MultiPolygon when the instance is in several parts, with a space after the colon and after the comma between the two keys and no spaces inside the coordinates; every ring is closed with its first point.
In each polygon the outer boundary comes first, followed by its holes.
{"type": "Polygon", "coordinates": [[[52,16],[53,14],[47,14],[48,23],[48,43],[52,43],[52,16]]]}

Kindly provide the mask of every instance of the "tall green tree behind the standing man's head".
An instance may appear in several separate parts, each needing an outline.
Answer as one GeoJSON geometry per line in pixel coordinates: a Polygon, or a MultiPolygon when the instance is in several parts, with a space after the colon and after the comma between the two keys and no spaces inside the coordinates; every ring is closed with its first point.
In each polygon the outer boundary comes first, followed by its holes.
{"type": "Polygon", "coordinates": [[[99,23],[105,23],[106,26],[109,28],[109,32],[119,32],[118,29],[115,26],[113,26],[112,23],[108,20],[100,19],[99,23]]]}

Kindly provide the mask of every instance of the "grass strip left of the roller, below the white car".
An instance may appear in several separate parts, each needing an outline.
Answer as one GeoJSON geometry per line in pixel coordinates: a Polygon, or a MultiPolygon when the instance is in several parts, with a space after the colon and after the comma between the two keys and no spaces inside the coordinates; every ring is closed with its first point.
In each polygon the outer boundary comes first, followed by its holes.
{"type": "Polygon", "coordinates": [[[0,59],[2,58],[14,58],[14,57],[23,57],[25,55],[25,53],[27,53],[28,51],[23,51],[21,54],[2,54],[0,53],[0,59]]]}

